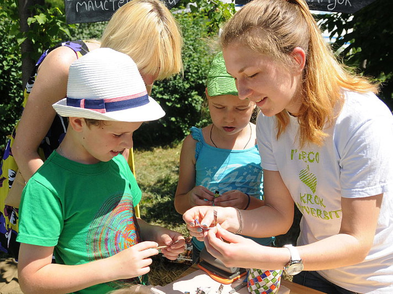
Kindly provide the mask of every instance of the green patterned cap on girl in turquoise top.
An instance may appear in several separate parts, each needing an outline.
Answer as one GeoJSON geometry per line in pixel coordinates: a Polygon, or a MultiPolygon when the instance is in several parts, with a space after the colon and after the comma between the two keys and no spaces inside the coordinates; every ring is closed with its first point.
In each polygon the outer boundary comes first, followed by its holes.
{"type": "Polygon", "coordinates": [[[211,62],[208,73],[208,95],[234,95],[238,96],[235,79],[231,77],[225,67],[222,52],[217,54],[211,62]]]}

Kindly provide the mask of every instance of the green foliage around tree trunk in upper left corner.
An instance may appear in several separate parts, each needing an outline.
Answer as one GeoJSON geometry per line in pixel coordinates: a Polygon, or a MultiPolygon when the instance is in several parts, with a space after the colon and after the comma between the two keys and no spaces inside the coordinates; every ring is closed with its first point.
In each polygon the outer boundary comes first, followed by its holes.
{"type": "Polygon", "coordinates": [[[65,15],[58,7],[30,7],[36,15],[28,18],[30,31],[22,33],[19,27],[18,1],[0,0],[0,152],[4,151],[7,137],[22,114],[23,89],[20,44],[27,38],[33,52],[26,53],[35,61],[51,45],[70,37],[75,25],[65,24],[65,15]]]}

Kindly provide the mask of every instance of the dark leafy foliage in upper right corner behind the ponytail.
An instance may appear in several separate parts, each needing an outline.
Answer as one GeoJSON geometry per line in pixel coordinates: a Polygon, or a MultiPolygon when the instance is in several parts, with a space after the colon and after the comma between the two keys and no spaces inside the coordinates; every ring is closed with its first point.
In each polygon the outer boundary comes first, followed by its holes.
{"type": "Polygon", "coordinates": [[[393,2],[376,0],[353,15],[334,13],[321,16],[321,28],[345,64],[382,83],[378,95],[393,110],[393,2]],[[344,46],[345,45],[345,46],[344,46]]]}

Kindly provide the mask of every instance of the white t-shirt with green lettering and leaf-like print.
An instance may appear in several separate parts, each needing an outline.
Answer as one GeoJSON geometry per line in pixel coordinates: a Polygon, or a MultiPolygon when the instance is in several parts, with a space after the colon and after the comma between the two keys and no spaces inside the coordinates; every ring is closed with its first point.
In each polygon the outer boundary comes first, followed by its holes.
{"type": "MultiPolygon", "coordinates": [[[[343,109],[325,129],[323,146],[299,148],[298,120],[290,117],[276,140],[275,117],[260,114],[257,140],[263,169],[279,171],[303,214],[298,245],[322,240],[340,229],[341,198],[384,193],[373,247],[359,264],[318,271],[345,289],[393,293],[393,116],[372,93],[344,91],[343,109]]],[[[340,244],[337,244],[340,246],[340,244]]]]}

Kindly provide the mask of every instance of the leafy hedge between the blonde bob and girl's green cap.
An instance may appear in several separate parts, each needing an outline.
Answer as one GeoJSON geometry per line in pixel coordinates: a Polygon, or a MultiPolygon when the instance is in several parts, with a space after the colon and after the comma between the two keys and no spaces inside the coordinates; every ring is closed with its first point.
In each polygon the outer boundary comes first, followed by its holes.
{"type": "Polygon", "coordinates": [[[202,117],[206,76],[213,53],[204,42],[208,36],[208,19],[200,13],[176,14],[183,32],[184,76],[154,83],[152,97],[166,115],[156,121],[144,123],[135,132],[136,147],[167,145],[182,140],[192,126],[203,126],[208,120],[202,117]]]}

